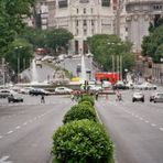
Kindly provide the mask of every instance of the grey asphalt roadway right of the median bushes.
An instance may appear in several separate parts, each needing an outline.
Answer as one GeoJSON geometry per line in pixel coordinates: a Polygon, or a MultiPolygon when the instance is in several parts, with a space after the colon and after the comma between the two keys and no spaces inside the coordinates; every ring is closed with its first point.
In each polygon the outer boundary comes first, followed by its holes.
{"type": "Polygon", "coordinates": [[[117,163],[163,163],[163,102],[149,101],[152,90],[143,91],[144,104],[132,102],[132,91],[122,91],[123,101],[110,96],[96,102],[115,142],[117,163]]]}

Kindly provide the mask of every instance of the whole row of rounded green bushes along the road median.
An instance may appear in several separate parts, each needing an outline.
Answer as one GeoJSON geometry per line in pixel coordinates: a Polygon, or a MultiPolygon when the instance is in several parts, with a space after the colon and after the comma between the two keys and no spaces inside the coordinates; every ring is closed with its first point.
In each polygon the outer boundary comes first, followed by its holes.
{"type": "MultiPolygon", "coordinates": [[[[53,134],[52,152],[59,163],[113,163],[113,145],[98,120],[94,99],[84,96],[53,134]]],[[[56,162],[56,160],[54,162],[56,162]]]]}

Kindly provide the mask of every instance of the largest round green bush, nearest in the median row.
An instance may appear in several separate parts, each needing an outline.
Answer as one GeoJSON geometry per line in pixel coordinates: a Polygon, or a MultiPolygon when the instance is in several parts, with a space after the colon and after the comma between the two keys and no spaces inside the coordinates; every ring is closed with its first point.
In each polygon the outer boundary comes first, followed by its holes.
{"type": "Polygon", "coordinates": [[[52,153],[63,163],[113,163],[113,145],[104,127],[87,119],[59,127],[52,153]]]}

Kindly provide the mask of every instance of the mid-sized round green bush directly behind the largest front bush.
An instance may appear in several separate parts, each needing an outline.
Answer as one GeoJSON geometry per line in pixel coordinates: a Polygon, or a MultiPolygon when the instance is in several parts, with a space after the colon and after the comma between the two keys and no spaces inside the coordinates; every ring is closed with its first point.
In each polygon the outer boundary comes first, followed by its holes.
{"type": "Polygon", "coordinates": [[[89,119],[93,121],[97,121],[96,112],[93,107],[79,104],[73,106],[64,116],[63,122],[69,122],[73,120],[82,120],[82,119],[89,119]]]}

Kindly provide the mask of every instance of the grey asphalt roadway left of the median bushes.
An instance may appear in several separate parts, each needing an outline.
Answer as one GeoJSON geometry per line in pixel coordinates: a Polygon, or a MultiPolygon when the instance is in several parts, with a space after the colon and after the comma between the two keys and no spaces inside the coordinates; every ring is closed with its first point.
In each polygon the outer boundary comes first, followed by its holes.
{"type": "Polygon", "coordinates": [[[23,104],[0,99],[0,163],[50,162],[53,132],[74,105],[69,97],[24,96],[23,104]]]}

